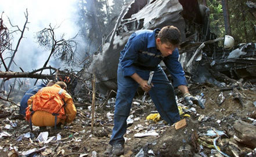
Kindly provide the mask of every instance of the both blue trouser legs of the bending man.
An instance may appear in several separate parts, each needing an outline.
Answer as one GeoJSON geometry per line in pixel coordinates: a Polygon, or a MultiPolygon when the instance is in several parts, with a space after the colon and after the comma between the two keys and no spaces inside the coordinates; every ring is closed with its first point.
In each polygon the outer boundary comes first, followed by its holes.
{"type": "MultiPolygon", "coordinates": [[[[149,72],[136,70],[143,79],[149,79],[149,72]]],[[[179,121],[179,111],[175,101],[174,87],[172,87],[161,67],[154,72],[152,79],[154,87],[149,91],[150,97],[156,105],[157,111],[165,121],[171,125],[179,121]]],[[[124,144],[124,134],[127,130],[127,117],[131,110],[132,98],[134,98],[138,83],[130,77],[124,77],[121,69],[117,72],[117,98],[114,111],[114,127],[110,144],[124,144]]]]}

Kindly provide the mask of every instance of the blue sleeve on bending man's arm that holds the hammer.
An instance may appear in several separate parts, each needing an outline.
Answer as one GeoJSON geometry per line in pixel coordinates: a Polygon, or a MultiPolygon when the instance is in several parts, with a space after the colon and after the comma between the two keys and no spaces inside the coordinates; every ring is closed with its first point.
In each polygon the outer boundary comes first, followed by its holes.
{"type": "Polygon", "coordinates": [[[132,64],[138,59],[138,51],[143,50],[144,45],[143,39],[136,38],[135,32],[129,37],[125,48],[121,52],[123,56],[120,60],[120,65],[124,76],[131,76],[135,73],[135,68],[132,64]]]}

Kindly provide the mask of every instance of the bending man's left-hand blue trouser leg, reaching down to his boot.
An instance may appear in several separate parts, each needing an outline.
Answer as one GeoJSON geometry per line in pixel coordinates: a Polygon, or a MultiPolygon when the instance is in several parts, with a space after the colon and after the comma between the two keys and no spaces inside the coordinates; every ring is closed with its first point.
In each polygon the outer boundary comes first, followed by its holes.
{"type": "Polygon", "coordinates": [[[121,69],[117,70],[117,97],[114,111],[114,127],[110,144],[124,144],[124,134],[127,130],[127,117],[131,110],[132,99],[135,96],[138,83],[131,77],[124,77],[121,69]]]}

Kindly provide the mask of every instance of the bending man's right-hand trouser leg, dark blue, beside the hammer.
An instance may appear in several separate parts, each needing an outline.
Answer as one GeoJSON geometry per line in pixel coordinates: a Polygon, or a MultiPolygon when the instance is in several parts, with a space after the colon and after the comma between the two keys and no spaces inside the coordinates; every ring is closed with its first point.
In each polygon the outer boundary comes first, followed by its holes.
{"type": "Polygon", "coordinates": [[[158,68],[154,72],[152,83],[154,87],[149,91],[149,94],[161,118],[170,125],[179,121],[180,116],[176,105],[174,87],[162,68],[158,68]]]}

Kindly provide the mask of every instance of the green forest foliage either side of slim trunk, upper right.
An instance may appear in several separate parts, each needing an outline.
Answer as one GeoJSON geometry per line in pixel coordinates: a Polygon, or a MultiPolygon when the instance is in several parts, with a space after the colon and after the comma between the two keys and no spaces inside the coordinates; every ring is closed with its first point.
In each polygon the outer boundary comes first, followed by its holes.
{"type": "MultiPolygon", "coordinates": [[[[230,25],[232,36],[237,43],[255,42],[255,17],[250,13],[250,8],[246,5],[247,0],[232,0],[228,1],[228,10],[230,16],[230,25]]],[[[207,6],[210,9],[210,29],[217,36],[224,36],[225,25],[222,11],[221,0],[207,1],[207,6]]]]}

